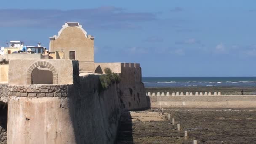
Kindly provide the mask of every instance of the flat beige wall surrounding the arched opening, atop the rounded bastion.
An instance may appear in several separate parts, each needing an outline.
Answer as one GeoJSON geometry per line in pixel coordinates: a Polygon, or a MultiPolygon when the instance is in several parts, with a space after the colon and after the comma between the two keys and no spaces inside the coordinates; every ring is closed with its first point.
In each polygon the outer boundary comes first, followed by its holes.
{"type": "Polygon", "coordinates": [[[78,61],[72,63],[72,60],[68,59],[13,59],[9,62],[9,84],[28,84],[29,77],[31,81],[31,72],[41,63],[42,66],[52,69],[53,84],[73,83],[73,66],[75,63],[78,65],[78,61]]]}

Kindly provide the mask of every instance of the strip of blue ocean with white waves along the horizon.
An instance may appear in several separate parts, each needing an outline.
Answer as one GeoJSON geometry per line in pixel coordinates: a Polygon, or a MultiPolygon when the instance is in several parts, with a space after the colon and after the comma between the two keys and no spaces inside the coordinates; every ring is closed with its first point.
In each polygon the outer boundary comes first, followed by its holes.
{"type": "Polygon", "coordinates": [[[153,87],[256,87],[256,77],[142,77],[146,88],[153,87]]]}

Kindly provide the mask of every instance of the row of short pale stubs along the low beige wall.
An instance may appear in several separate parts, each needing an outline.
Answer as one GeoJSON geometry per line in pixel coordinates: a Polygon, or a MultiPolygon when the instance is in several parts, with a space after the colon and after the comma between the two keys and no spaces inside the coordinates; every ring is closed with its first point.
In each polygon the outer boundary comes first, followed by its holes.
{"type": "Polygon", "coordinates": [[[200,92],[200,93],[195,92],[195,95],[193,95],[192,92],[189,93],[188,91],[186,92],[185,95],[183,92],[181,92],[181,93],[176,92],[176,93],[172,93],[171,95],[170,95],[170,92],[167,92],[166,95],[164,92],[162,92],[161,94],[160,94],[160,92],[157,92],[157,94],[148,92],[148,93],[146,93],[146,95],[147,96],[220,96],[221,92],[214,92],[213,94],[211,92],[209,92],[209,93],[205,92],[204,94],[203,94],[203,92],[200,92]]]}

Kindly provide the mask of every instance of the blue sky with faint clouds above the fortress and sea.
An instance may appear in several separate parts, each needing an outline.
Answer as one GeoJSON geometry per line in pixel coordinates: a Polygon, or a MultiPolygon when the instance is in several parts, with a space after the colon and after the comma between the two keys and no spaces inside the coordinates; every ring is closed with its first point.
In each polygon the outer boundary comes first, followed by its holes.
{"type": "Polygon", "coordinates": [[[144,77],[256,76],[255,0],[5,0],[0,46],[49,39],[66,21],[95,36],[96,62],[144,77]]]}

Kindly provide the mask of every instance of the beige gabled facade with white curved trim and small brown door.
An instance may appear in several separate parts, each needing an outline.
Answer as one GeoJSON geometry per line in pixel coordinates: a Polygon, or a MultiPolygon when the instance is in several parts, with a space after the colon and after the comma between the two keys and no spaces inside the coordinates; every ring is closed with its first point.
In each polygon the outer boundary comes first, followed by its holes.
{"type": "Polygon", "coordinates": [[[77,22],[65,23],[58,35],[50,37],[49,52],[63,52],[64,59],[94,62],[94,37],[77,22]],[[73,55],[73,56],[72,56],[73,55]]]}

